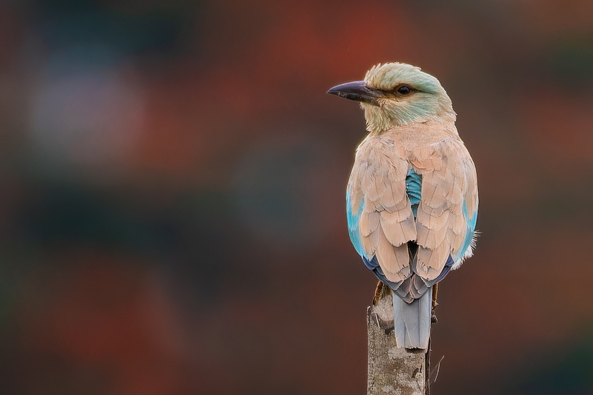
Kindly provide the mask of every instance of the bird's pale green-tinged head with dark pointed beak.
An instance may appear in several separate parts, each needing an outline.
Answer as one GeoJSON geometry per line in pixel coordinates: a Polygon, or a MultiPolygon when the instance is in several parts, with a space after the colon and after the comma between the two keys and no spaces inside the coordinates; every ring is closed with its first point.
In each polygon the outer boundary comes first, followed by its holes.
{"type": "Polygon", "coordinates": [[[364,81],[346,82],[327,91],[360,101],[369,132],[428,120],[455,120],[451,99],[432,75],[406,63],[378,64],[364,81]]]}

